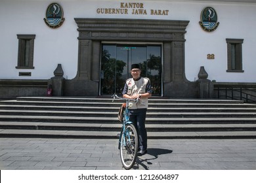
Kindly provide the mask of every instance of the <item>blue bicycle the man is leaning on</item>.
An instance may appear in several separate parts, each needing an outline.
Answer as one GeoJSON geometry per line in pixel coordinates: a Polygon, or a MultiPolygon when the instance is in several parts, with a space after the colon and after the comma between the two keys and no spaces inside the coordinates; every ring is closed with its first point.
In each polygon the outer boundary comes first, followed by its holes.
{"type": "Polygon", "coordinates": [[[131,101],[137,103],[139,99],[127,99],[123,97],[118,97],[116,94],[112,95],[114,99],[120,99],[125,101],[125,109],[123,110],[123,125],[121,127],[121,132],[119,135],[119,145],[120,158],[123,167],[127,170],[131,169],[135,164],[137,159],[137,152],[139,148],[139,137],[137,129],[133,122],[129,121],[129,107],[131,107],[131,101]]]}

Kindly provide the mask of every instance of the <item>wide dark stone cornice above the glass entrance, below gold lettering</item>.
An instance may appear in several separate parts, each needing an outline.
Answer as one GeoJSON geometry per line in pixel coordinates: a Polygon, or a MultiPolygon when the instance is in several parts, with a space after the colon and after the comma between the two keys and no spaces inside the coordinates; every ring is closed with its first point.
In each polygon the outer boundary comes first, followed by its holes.
{"type": "Polygon", "coordinates": [[[78,39],[100,41],[185,41],[186,20],[75,18],[78,39]]]}

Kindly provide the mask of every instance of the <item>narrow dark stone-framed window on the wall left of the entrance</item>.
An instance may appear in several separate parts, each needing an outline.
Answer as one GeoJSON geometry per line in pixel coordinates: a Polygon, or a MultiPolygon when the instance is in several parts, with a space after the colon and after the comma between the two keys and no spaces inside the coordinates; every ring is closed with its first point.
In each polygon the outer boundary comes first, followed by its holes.
{"type": "Polygon", "coordinates": [[[16,69],[34,69],[33,42],[35,35],[17,35],[18,37],[18,65],[16,69]]]}

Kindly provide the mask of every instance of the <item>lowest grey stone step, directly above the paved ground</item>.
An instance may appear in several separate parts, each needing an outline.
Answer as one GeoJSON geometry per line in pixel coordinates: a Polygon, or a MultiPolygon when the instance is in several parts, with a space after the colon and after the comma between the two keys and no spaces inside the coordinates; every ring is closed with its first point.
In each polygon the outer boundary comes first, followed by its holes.
{"type": "MultiPolygon", "coordinates": [[[[0,137],[20,138],[100,138],[118,139],[116,131],[61,131],[0,129],[0,137]]],[[[148,139],[255,139],[256,131],[191,131],[191,132],[148,132],[148,139]]],[[[118,140],[117,140],[118,141],[118,140]]]]}

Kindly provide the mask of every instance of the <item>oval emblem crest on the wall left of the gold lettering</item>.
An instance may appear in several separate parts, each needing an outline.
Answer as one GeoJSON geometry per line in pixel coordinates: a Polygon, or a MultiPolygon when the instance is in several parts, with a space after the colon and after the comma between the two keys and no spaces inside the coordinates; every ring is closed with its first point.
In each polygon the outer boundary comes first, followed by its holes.
{"type": "Polygon", "coordinates": [[[45,20],[45,24],[49,27],[58,28],[65,20],[63,14],[62,7],[58,3],[51,3],[51,5],[47,7],[45,18],[43,20],[45,20]]]}

